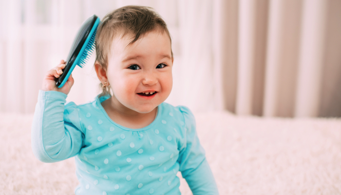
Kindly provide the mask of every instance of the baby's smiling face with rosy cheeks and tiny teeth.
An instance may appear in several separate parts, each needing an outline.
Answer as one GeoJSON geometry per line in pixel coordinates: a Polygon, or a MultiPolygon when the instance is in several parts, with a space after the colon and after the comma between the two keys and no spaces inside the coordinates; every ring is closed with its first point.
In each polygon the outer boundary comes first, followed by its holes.
{"type": "Polygon", "coordinates": [[[107,77],[120,106],[149,113],[172,88],[170,38],[154,30],[127,46],[132,40],[129,35],[113,40],[107,77]]]}

